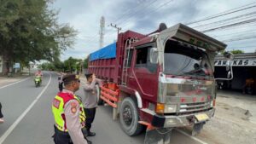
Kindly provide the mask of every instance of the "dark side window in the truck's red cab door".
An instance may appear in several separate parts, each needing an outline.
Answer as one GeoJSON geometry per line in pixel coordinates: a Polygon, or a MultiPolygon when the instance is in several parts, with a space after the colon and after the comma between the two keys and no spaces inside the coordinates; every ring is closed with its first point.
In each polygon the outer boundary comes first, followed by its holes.
{"type": "Polygon", "coordinates": [[[149,51],[152,46],[137,49],[136,67],[145,67],[149,72],[156,72],[157,64],[152,64],[149,58],[149,51]]]}

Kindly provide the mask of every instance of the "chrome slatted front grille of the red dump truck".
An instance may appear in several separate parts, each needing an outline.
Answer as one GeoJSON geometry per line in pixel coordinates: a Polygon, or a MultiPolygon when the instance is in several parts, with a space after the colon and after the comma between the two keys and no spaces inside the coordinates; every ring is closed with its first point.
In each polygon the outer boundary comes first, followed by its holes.
{"type": "Polygon", "coordinates": [[[179,105],[179,113],[194,113],[207,110],[211,107],[211,102],[197,102],[197,103],[187,103],[179,105]]]}

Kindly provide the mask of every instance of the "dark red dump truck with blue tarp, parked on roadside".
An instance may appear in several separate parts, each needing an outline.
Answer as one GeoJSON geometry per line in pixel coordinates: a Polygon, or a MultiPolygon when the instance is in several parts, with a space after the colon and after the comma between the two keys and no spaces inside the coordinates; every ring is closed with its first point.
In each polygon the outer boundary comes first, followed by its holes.
{"type": "Polygon", "coordinates": [[[146,127],[145,143],[167,143],[173,128],[193,126],[196,135],[213,117],[213,61],[225,47],[183,24],[160,24],[148,35],[119,33],[116,43],[90,54],[88,71],[105,81],[99,103],[113,107],[127,135],[146,127]]]}

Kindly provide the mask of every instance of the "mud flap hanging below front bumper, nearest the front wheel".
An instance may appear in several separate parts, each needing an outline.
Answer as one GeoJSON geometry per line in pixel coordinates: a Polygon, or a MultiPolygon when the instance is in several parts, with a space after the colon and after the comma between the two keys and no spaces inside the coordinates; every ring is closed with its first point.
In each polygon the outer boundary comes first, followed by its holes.
{"type": "Polygon", "coordinates": [[[172,129],[147,130],[144,144],[169,144],[171,135],[172,129]]]}

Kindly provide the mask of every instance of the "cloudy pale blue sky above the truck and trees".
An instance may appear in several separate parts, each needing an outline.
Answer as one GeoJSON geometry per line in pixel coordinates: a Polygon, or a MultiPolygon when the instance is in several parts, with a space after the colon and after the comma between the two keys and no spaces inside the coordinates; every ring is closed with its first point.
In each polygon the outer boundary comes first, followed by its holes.
{"type": "Polygon", "coordinates": [[[154,32],[161,22],[166,23],[168,27],[183,23],[197,31],[205,31],[246,21],[246,24],[217,29],[205,34],[228,44],[228,50],[255,52],[254,5],[255,0],[55,0],[50,9],[59,10],[58,21],[68,23],[79,32],[73,48],[67,49],[61,55],[61,60],[66,60],[70,56],[84,59],[100,49],[99,32],[102,16],[105,18],[104,46],[113,43],[117,37],[117,29],[109,26],[111,23],[121,27],[121,32],[131,30],[148,34],[154,32]],[[232,10],[238,10],[237,8],[247,9],[227,14],[232,10]],[[216,14],[223,16],[189,24],[216,14]]]}

